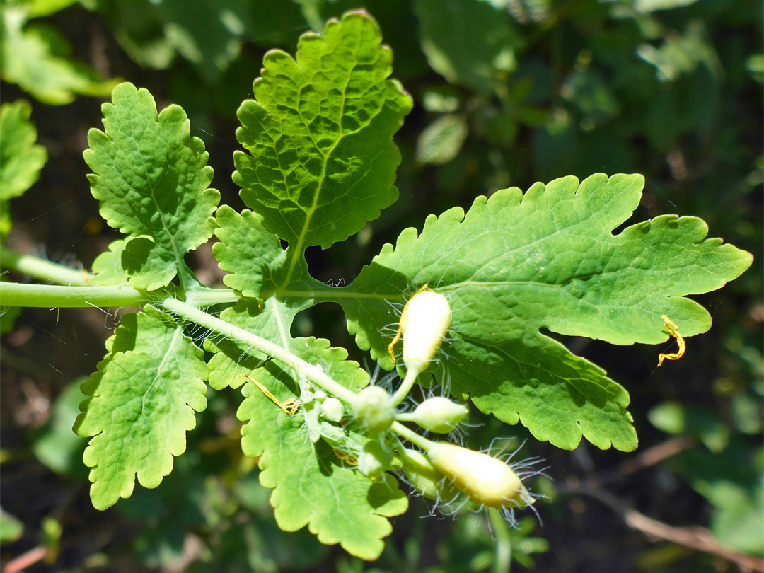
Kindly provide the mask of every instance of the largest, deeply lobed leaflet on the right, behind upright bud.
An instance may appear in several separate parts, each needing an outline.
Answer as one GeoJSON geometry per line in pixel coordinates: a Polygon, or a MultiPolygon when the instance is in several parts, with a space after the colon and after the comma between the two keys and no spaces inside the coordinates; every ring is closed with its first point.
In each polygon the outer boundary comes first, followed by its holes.
{"type": "Polygon", "coordinates": [[[716,290],[751,264],[745,251],[707,239],[694,217],[662,215],[613,235],[639,205],[643,177],[604,174],[536,183],[524,195],[478,197],[465,215],[428,217],[387,244],[334,300],[360,348],[391,367],[397,322],[386,301],[429,283],[448,296],[452,332],[439,376],[452,393],[537,439],[572,449],[581,435],[600,448],[636,448],[629,396],[594,364],[541,329],[617,345],[659,344],[668,315],[685,336],[711,316],[688,294],[716,290]]]}

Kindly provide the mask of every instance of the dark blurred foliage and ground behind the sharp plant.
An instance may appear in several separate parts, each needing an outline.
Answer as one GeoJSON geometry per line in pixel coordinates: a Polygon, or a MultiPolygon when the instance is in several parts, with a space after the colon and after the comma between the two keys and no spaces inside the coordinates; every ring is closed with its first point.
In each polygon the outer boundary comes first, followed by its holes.
{"type": "MultiPolygon", "coordinates": [[[[422,520],[431,508],[413,499],[374,564],[306,531],[280,532],[255,461],[241,455],[239,399],[230,392],[210,390],[187,453],[160,487],[93,510],[85,443],[70,428],[79,377],[94,370],[116,319],[97,309],[24,310],[2,338],[3,571],[20,571],[24,559],[27,571],[457,573],[508,571],[510,562],[540,571],[745,569],[630,529],[623,507],[666,526],[707,527],[733,552],[764,553],[761,2],[2,0],[0,8],[0,99],[31,101],[49,157],[40,180],[11,203],[6,244],[18,251],[89,267],[113,237],[81,154],[87,130],[101,125],[92,97],[108,96],[121,78],[150,89],[160,107],[186,109],[222,202],[241,208],[230,180],[235,111],[252,95],[265,50],[293,52],[299,34],[366,8],[393,49],[393,76],[415,101],[396,137],[400,200],[345,244],[309,251],[317,277],[349,283],[429,213],[596,172],[646,176],[631,222],[696,215],[711,236],[756,256],[739,280],[699,297],[713,329],[660,371],[665,348],[563,340],[630,391],[637,452],[586,444],[563,452],[529,439],[518,455],[542,456],[555,478],[535,484],[548,497],[539,503],[542,527],[523,516],[510,529],[469,508],[455,520],[422,520]]],[[[203,280],[222,284],[209,248],[192,257],[203,280]]],[[[333,306],[299,316],[295,329],[352,351],[333,306]]],[[[478,447],[502,436],[511,450],[529,437],[487,417],[471,422],[478,447]]]]}

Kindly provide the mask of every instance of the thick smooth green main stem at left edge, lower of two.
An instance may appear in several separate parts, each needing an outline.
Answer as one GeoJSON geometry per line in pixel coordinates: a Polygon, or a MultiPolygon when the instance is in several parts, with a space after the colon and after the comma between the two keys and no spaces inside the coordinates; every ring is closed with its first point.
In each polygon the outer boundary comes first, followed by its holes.
{"type": "Polygon", "coordinates": [[[58,286],[0,282],[0,304],[38,308],[143,306],[145,293],[132,286],[58,286]]]}

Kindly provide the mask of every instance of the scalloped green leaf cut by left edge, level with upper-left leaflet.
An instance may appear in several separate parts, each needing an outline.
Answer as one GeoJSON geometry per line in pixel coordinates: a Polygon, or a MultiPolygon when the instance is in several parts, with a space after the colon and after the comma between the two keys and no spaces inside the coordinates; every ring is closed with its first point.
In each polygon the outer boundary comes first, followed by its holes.
{"type": "Polygon", "coordinates": [[[37,129],[29,121],[28,102],[5,103],[0,108],[0,201],[24,193],[40,178],[47,151],[35,145],[37,129]]]}

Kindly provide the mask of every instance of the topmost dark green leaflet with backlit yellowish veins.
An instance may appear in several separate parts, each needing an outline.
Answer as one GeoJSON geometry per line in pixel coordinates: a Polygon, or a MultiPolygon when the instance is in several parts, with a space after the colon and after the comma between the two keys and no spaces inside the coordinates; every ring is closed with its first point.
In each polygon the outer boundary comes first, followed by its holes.
{"type": "MultiPolygon", "coordinates": [[[[296,60],[271,50],[238,110],[234,181],[267,231],[289,241],[290,269],[306,247],[329,248],[376,219],[398,196],[392,136],[410,96],[391,72],[390,49],[364,12],[303,34],[296,60]]],[[[287,274],[287,279],[290,274],[287,274]]]]}

